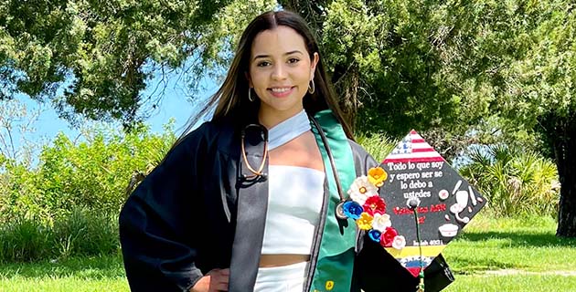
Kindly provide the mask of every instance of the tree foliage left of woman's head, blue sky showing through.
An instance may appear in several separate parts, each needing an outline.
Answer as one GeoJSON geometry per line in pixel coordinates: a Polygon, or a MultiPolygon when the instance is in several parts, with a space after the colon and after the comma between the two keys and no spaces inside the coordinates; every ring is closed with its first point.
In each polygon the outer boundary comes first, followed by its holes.
{"type": "Polygon", "coordinates": [[[3,1],[0,99],[21,92],[52,101],[69,120],[81,114],[131,124],[149,101],[142,91],[154,74],[189,64],[185,71],[197,78],[225,58],[219,53],[244,19],[271,6],[263,0],[3,1]]]}

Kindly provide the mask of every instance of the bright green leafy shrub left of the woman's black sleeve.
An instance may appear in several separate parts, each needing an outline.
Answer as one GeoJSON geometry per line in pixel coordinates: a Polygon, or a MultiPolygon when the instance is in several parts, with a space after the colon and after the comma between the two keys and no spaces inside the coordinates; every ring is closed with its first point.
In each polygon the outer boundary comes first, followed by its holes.
{"type": "Polygon", "coordinates": [[[59,134],[35,169],[0,156],[0,262],[116,251],[126,187],[162,160],[176,140],[170,127],[92,127],[81,142],[59,134]]]}

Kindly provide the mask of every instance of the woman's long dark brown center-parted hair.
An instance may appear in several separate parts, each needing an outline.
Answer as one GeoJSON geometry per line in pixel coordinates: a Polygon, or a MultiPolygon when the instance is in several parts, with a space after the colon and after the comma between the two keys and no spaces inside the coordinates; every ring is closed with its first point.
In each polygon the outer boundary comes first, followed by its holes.
{"type": "MultiPolygon", "coordinates": [[[[189,130],[196,124],[197,120],[205,116],[210,110],[214,110],[212,121],[232,120],[235,125],[245,125],[249,121],[254,121],[258,117],[260,99],[250,101],[248,99],[249,82],[246,73],[249,72],[251,46],[254,38],[264,30],[274,29],[278,26],[288,26],[304,37],[304,44],[310,59],[314,59],[314,54],[319,54],[318,43],[312,35],[310,28],[306,25],[304,18],[291,11],[269,11],[261,14],[251,21],[246,27],[236,49],[236,54],[232,59],[228,75],[219,90],[208,99],[207,105],[200,110],[197,116],[187,122],[182,140],[189,130]]],[[[319,58],[315,69],[315,92],[306,93],[304,96],[304,110],[309,115],[330,109],[336,119],[344,128],[348,138],[353,139],[352,130],[349,123],[344,119],[342,110],[338,105],[336,93],[327,77],[322,57],[319,58]]],[[[254,94],[252,94],[254,95],[254,94]]]]}

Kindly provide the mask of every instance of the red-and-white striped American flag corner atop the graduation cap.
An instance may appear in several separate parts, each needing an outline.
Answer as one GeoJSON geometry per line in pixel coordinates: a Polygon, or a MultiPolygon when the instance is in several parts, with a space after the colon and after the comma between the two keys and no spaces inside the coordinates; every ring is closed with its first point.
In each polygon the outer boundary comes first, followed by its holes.
{"type": "Polygon", "coordinates": [[[416,130],[410,133],[396,145],[396,148],[386,157],[388,162],[443,162],[440,153],[435,151],[416,130]]]}

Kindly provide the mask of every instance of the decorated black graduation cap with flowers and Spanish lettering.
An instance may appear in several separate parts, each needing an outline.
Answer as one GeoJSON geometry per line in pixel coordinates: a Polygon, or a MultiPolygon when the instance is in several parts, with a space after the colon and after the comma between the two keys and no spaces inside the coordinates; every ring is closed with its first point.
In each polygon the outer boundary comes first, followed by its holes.
{"type": "Polygon", "coordinates": [[[426,266],[485,205],[485,198],[415,130],[379,167],[358,177],[348,193],[344,214],[421,278],[419,291],[426,266]]]}

